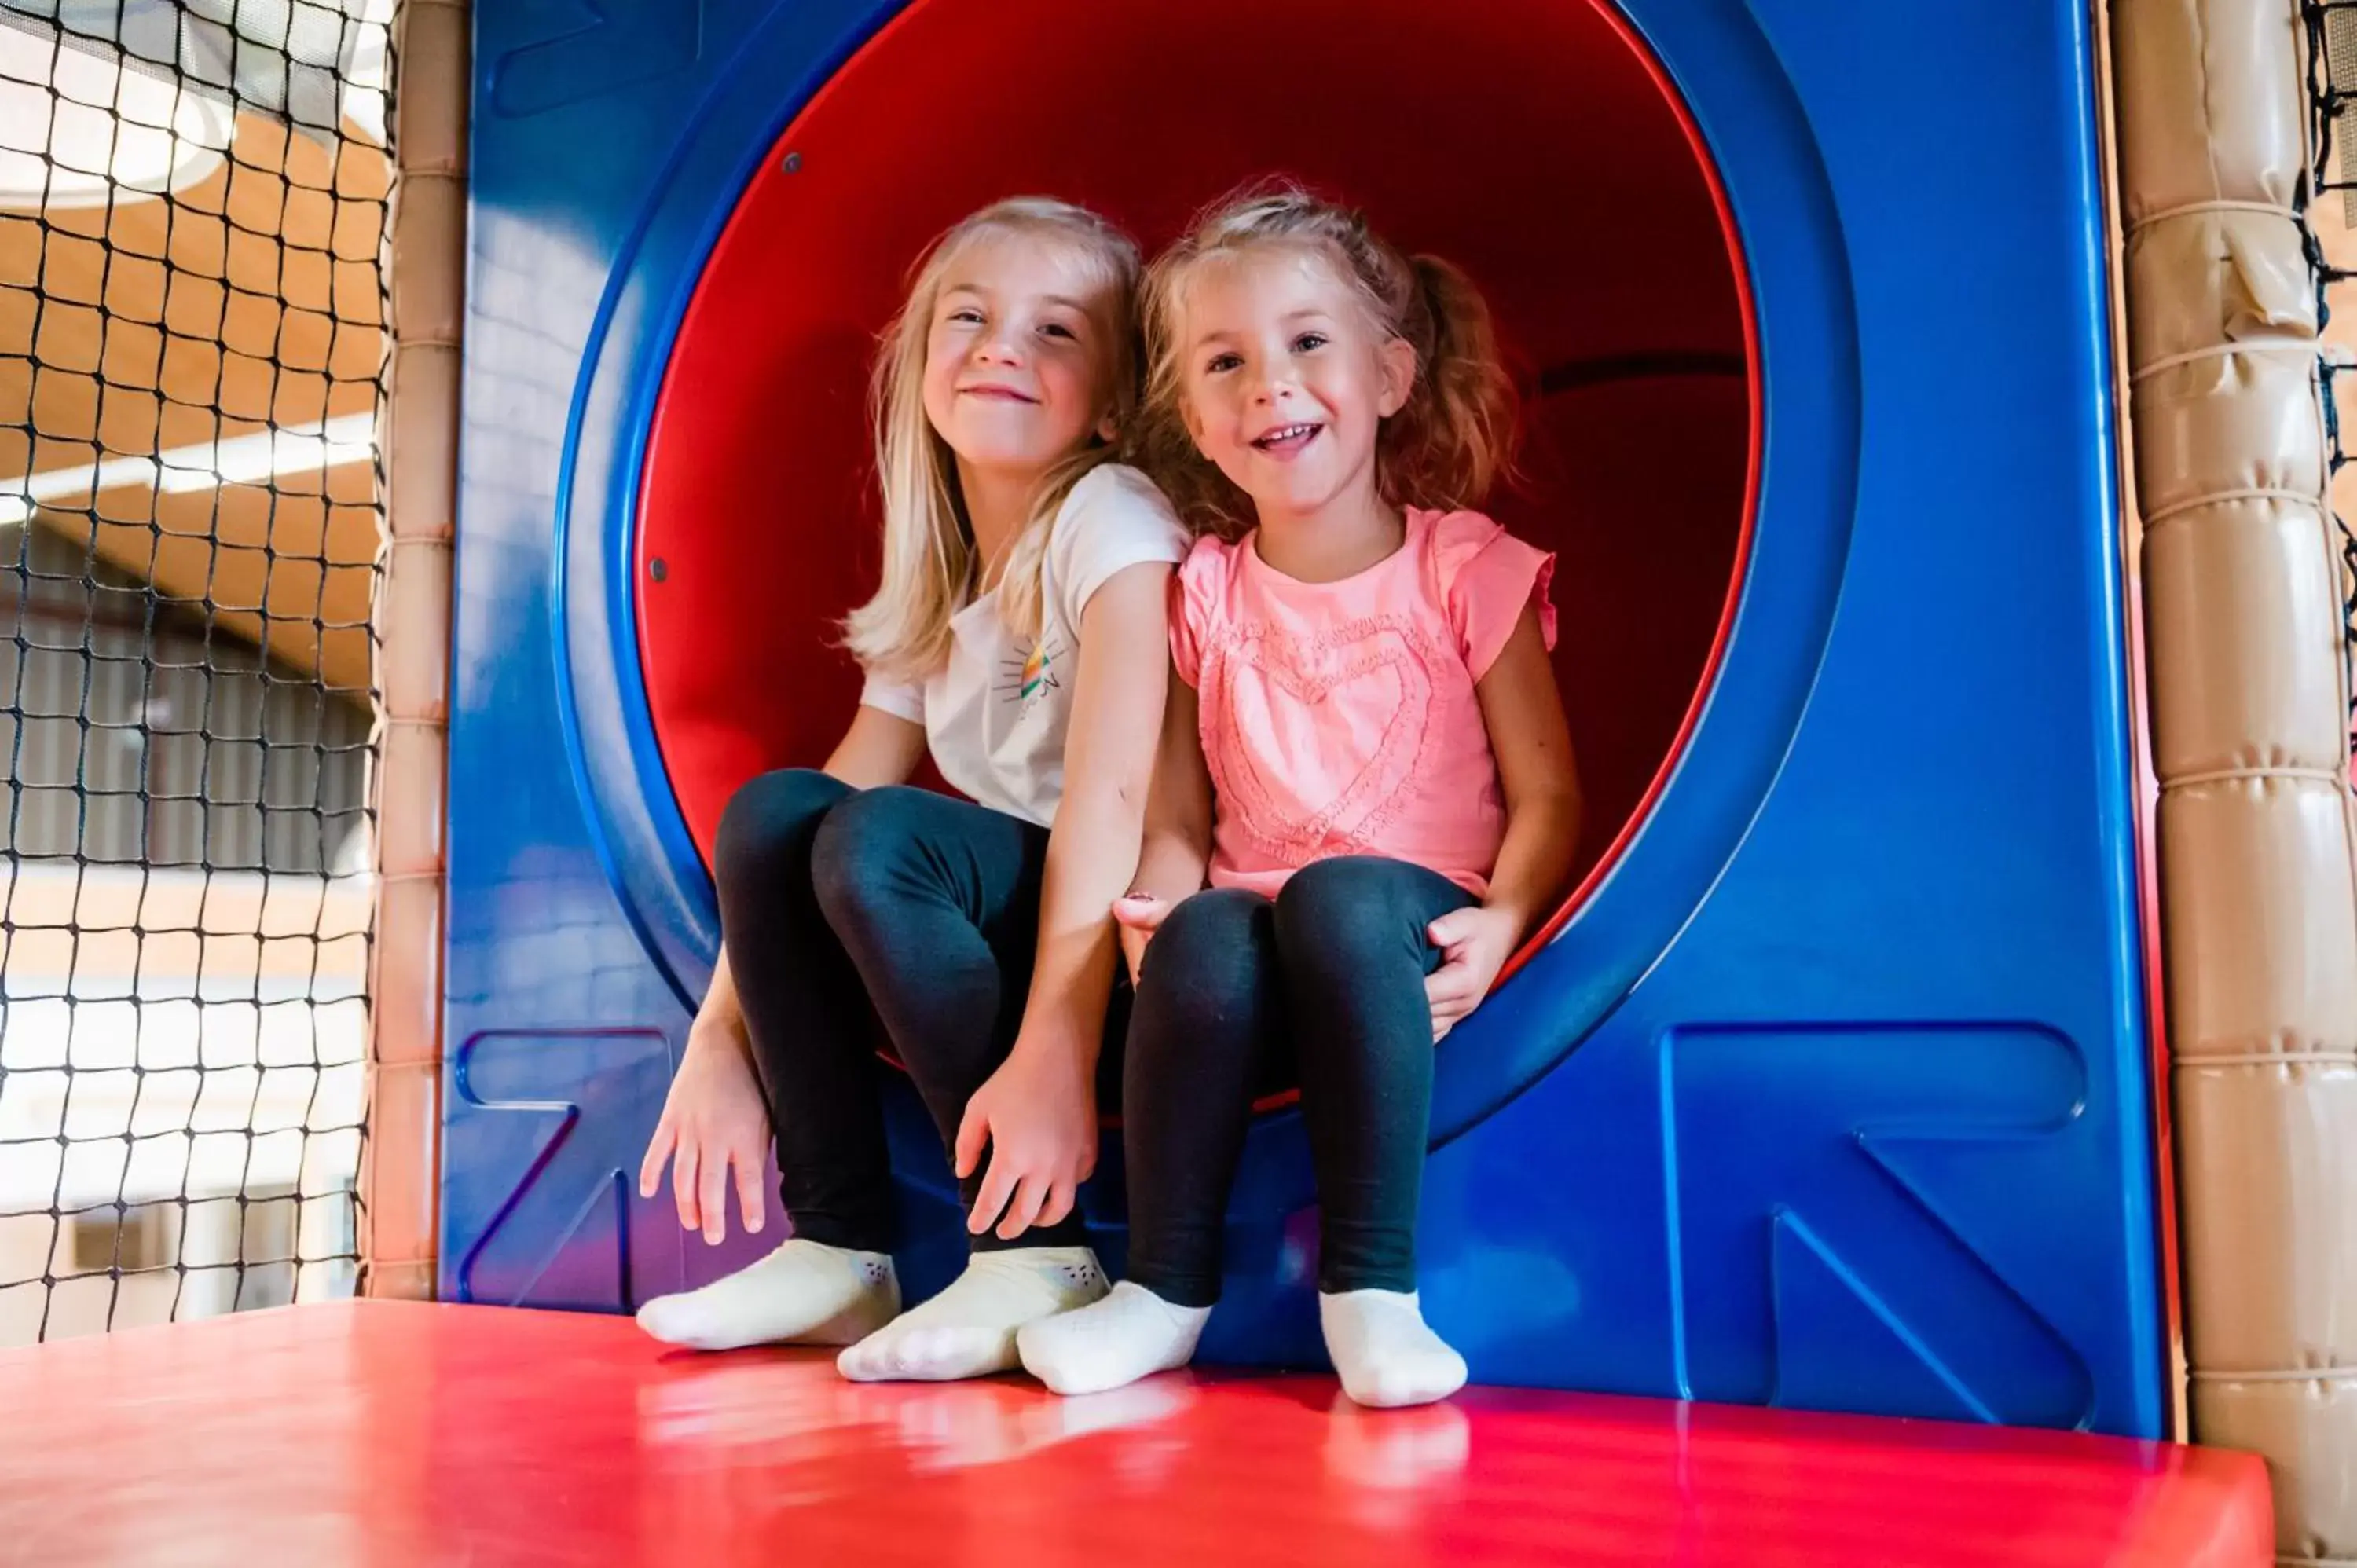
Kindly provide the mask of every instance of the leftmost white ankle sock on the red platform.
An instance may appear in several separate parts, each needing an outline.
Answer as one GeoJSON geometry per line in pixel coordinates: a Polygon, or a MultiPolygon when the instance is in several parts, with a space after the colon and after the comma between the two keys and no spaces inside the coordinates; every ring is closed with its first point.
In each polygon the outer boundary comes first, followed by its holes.
{"type": "Polygon", "coordinates": [[[900,1278],[884,1252],[787,1238],[775,1252],[702,1290],[655,1297],[639,1327],[665,1344],[853,1344],[900,1311],[900,1278]]]}

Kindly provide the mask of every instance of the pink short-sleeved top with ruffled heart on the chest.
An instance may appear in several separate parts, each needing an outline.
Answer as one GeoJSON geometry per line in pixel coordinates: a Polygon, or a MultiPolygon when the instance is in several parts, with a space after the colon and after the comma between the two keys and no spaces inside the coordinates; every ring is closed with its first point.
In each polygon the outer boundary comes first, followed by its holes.
{"type": "Polygon", "coordinates": [[[1478,512],[1409,512],[1400,549],[1341,582],[1287,578],[1252,535],[1197,540],[1171,660],[1219,792],[1211,887],[1275,896],[1310,861],[1379,854],[1487,894],[1506,799],[1473,684],[1525,604],[1556,644],[1553,571],[1478,512]]]}

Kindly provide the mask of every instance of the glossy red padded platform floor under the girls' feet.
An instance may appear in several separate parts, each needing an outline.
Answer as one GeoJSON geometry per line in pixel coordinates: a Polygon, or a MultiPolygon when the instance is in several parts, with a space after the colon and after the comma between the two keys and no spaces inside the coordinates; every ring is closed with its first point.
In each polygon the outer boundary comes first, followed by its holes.
{"type": "Polygon", "coordinates": [[[2244,1455],[1329,1377],[1058,1401],[346,1302],[0,1351],[0,1561],[276,1568],[2267,1563],[2244,1455]]]}

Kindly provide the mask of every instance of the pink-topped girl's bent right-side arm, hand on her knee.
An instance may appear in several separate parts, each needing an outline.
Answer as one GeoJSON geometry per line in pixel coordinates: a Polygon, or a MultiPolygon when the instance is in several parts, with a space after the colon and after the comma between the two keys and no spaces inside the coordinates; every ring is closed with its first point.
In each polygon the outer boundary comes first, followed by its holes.
{"type": "Polygon", "coordinates": [[[1426,931],[1445,953],[1424,983],[1433,1002],[1433,1037],[1450,1033],[1490,995],[1513,948],[1563,894],[1579,846],[1572,731],[1534,608],[1523,611],[1473,693],[1506,792],[1506,842],[1497,851],[1490,896],[1478,908],[1442,915],[1426,931]]]}

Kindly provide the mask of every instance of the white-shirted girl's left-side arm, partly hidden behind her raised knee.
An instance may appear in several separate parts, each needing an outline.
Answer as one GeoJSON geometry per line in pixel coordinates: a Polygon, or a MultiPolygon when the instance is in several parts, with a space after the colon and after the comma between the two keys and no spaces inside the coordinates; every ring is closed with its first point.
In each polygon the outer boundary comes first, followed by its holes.
{"type": "MultiPolygon", "coordinates": [[[[907,783],[922,759],[924,726],[863,705],[827,757],[827,773],[853,790],[872,790],[907,783]]],[[[672,1200],[681,1226],[700,1231],[712,1245],[726,1240],[731,1172],[745,1228],[764,1226],[768,1106],[726,948],[712,964],[712,986],[688,1026],[688,1047],[662,1101],[662,1120],[646,1144],[646,1160],[639,1165],[641,1198],[653,1198],[662,1186],[665,1160],[672,1162],[672,1200]]]]}

